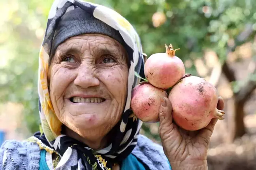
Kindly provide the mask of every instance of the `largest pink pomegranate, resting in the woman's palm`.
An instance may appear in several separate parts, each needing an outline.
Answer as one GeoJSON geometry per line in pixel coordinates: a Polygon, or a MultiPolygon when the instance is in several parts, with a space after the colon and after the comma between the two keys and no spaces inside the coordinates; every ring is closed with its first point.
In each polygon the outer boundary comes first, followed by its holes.
{"type": "Polygon", "coordinates": [[[216,108],[216,88],[203,78],[183,78],[171,89],[168,98],[172,104],[173,120],[188,131],[206,127],[213,118],[224,119],[224,112],[216,108]]]}

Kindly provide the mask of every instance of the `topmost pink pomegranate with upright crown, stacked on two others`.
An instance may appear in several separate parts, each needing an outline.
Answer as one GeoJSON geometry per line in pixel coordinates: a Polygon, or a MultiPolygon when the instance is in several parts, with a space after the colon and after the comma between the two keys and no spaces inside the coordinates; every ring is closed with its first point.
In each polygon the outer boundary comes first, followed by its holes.
{"type": "Polygon", "coordinates": [[[175,85],[184,75],[185,67],[180,58],[175,56],[172,45],[165,45],[166,53],[152,54],[146,61],[144,73],[155,87],[168,89],[175,85]]]}

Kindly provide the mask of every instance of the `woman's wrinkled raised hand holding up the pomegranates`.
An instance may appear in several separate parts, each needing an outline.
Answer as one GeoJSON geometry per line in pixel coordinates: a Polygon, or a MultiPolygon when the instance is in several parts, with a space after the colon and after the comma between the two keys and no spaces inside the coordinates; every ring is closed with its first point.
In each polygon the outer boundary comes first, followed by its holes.
{"type": "MultiPolygon", "coordinates": [[[[224,108],[224,101],[220,97],[217,108],[224,108]]],[[[217,119],[212,119],[209,125],[201,130],[186,131],[173,122],[171,111],[171,102],[164,98],[160,106],[159,134],[171,168],[207,170],[207,150],[217,119]]]]}

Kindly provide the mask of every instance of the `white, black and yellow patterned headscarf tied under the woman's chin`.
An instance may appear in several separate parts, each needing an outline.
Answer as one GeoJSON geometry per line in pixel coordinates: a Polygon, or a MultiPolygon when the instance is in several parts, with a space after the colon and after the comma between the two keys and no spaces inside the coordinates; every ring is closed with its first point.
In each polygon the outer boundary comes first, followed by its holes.
{"type": "Polygon", "coordinates": [[[132,152],[137,144],[137,135],[142,122],[132,116],[130,101],[132,88],[139,81],[135,72],[141,77],[145,77],[143,69],[144,61],[139,36],[133,26],[119,13],[90,2],[55,0],[49,12],[47,28],[40,50],[38,90],[42,131],[48,142],[47,145],[51,146],[61,157],[56,169],[108,170],[113,163],[121,161],[132,152]],[[117,30],[124,40],[125,46],[129,47],[126,48],[129,50],[127,51],[129,54],[129,73],[124,112],[115,127],[115,140],[111,141],[111,144],[106,148],[98,151],[94,151],[85,144],[62,134],[62,123],[55,115],[47,84],[49,56],[51,55],[56,27],[65,13],[77,7],[117,30]]]}

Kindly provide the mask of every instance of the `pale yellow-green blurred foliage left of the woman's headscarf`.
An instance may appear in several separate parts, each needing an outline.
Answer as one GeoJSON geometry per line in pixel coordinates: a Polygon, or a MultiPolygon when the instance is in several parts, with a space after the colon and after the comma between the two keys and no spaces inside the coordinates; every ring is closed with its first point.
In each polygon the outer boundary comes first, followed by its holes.
{"type": "Polygon", "coordinates": [[[0,1],[0,102],[22,103],[21,121],[34,132],[38,114],[38,54],[51,0],[0,1]]]}

